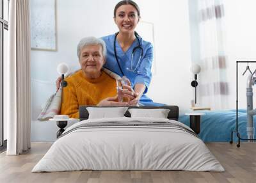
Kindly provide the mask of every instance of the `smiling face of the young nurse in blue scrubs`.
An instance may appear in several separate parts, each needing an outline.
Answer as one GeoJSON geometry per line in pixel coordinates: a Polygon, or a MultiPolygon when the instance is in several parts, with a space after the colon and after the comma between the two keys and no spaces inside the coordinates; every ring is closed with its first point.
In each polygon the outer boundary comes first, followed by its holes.
{"type": "Polygon", "coordinates": [[[138,12],[134,6],[125,4],[117,8],[114,20],[120,32],[133,33],[140,17],[138,17],[138,12]]]}

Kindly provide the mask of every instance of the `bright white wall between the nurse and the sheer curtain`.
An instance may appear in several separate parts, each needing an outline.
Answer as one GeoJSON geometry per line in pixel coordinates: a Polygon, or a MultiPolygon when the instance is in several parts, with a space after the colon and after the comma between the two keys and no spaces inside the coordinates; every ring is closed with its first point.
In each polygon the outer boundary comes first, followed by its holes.
{"type": "Polygon", "coordinates": [[[141,7],[150,7],[145,19],[153,19],[156,28],[156,75],[152,77],[148,96],[156,102],[177,105],[184,111],[193,97],[188,1],[148,2],[143,1],[141,7]]]}

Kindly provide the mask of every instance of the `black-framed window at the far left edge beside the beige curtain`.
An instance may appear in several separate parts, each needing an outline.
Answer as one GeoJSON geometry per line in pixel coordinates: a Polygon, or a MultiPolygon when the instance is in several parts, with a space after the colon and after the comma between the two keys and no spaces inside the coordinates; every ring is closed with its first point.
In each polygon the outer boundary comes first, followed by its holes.
{"type": "Polygon", "coordinates": [[[0,0],[0,151],[6,148],[6,123],[3,121],[3,63],[7,59],[9,0],[0,0]]]}

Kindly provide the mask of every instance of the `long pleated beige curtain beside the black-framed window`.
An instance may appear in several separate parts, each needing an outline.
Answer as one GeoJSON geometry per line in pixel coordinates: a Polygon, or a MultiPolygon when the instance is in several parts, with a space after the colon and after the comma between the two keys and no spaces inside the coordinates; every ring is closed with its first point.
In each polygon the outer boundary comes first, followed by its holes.
{"type": "Polygon", "coordinates": [[[30,15],[29,0],[10,1],[9,45],[4,70],[4,107],[8,155],[30,148],[30,15]]]}

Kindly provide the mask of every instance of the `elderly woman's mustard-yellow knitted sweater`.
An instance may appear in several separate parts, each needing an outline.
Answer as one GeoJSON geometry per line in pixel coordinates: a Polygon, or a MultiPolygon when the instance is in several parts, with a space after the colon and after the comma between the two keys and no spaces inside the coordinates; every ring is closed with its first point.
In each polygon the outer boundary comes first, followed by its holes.
{"type": "Polygon", "coordinates": [[[116,95],[116,81],[105,72],[97,79],[88,79],[79,70],[65,81],[68,84],[63,91],[61,115],[68,115],[70,118],[79,118],[79,106],[94,106],[101,100],[116,95]]]}

